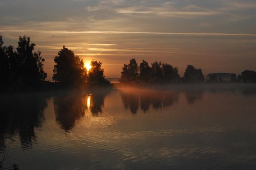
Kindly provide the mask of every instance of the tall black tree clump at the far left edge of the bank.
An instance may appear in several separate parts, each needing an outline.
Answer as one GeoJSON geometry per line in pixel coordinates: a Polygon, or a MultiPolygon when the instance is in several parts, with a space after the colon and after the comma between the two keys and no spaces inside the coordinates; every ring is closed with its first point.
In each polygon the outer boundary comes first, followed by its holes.
{"type": "Polygon", "coordinates": [[[3,46],[0,36],[0,74],[2,81],[9,85],[36,86],[44,81],[47,74],[44,72],[44,58],[41,52],[33,53],[35,44],[30,43],[30,38],[19,37],[18,47],[13,51],[13,46],[3,46]]]}

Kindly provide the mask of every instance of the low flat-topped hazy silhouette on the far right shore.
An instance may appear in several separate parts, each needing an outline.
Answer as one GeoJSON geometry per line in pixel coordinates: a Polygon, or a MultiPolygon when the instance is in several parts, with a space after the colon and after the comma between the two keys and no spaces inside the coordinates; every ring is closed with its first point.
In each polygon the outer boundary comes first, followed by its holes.
{"type": "Polygon", "coordinates": [[[235,82],[236,74],[212,73],[205,77],[206,82],[235,82]]]}

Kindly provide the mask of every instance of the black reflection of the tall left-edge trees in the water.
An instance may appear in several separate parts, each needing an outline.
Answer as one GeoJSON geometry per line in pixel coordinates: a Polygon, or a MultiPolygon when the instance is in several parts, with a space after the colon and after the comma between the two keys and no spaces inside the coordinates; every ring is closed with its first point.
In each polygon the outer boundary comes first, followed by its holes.
{"type": "Polygon", "coordinates": [[[32,148],[36,142],[35,127],[44,122],[47,95],[27,94],[0,99],[0,152],[6,145],[4,136],[15,140],[18,133],[22,149],[32,148]]]}

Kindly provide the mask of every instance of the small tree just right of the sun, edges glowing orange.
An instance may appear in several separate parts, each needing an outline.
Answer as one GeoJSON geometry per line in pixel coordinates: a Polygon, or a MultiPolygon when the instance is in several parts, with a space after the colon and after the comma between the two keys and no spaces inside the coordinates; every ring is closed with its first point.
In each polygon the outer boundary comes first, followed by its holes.
{"type": "Polygon", "coordinates": [[[88,82],[90,84],[109,84],[110,82],[105,79],[104,69],[101,68],[102,62],[97,62],[93,60],[90,62],[92,68],[90,68],[88,73],[88,82]]]}

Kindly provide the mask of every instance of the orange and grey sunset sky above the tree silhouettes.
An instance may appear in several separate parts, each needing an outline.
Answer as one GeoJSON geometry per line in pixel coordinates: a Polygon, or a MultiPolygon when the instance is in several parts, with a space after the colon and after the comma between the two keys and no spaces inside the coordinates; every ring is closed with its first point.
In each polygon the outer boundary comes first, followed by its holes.
{"type": "Polygon", "coordinates": [[[17,47],[31,37],[52,80],[62,46],[120,77],[135,58],[201,68],[203,74],[256,70],[255,0],[0,0],[0,34],[17,47]]]}

